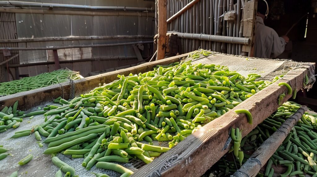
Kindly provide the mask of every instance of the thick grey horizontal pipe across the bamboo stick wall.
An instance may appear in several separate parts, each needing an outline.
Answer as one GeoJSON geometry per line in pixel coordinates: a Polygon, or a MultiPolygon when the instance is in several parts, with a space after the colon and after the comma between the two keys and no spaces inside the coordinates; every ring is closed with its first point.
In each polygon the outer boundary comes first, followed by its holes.
{"type": "Polygon", "coordinates": [[[177,34],[178,37],[184,38],[184,39],[198,39],[198,40],[206,40],[206,41],[214,41],[214,42],[225,42],[230,44],[244,44],[244,45],[250,44],[249,38],[183,33],[183,32],[174,32],[174,31],[168,31],[168,33],[177,34]]]}

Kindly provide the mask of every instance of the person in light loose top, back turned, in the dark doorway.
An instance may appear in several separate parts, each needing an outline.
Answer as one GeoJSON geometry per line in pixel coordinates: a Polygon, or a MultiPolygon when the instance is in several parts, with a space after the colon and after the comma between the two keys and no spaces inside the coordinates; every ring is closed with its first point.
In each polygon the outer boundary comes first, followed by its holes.
{"type": "Polygon", "coordinates": [[[254,44],[254,57],[257,58],[275,58],[281,55],[289,41],[287,36],[279,37],[274,29],[264,25],[267,8],[263,0],[258,0],[254,44]]]}

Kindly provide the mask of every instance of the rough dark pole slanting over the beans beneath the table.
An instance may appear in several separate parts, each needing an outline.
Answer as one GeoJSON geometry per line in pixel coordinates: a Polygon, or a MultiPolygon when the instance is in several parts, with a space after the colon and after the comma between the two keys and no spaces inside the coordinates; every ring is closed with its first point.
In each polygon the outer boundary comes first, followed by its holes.
{"type": "Polygon", "coordinates": [[[301,119],[306,106],[301,106],[297,112],[288,118],[260,147],[251,155],[251,157],[236,171],[233,177],[251,177],[256,176],[260,169],[265,165],[268,159],[274,154],[275,150],[283,143],[284,139],[290,133],[292,127],[301,119]]]}

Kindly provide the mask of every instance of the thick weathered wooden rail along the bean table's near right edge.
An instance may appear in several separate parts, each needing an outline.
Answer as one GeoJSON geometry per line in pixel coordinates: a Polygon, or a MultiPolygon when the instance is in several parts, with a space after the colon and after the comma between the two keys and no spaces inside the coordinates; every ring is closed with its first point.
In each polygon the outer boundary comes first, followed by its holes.
{"type": "MultiPolygon", "coordinates": [[[[303,88],[307,68],[292,70],[278,82],[287,82],[293,89],[297,87],[297,90],[300,90],[303,88]]],[[[153,162],[140,168],[133,176],[201,176],[228,152],[229,147],[224,146],[228,140],[230,128],[243,129],[242,136],[244,137],[279,107],[277,103],[279,95],[287,89],[284,86],[278,86],[278,82],[208,123],[171,150],[154,159],[153,162]],[[236,114],[234,112],[236,109],[249,110],[253,116],[253,124],[248,124],[246,115],[236,114]]],[[[292,95],[286,95],[282,102],[284,103],[290,97],[292,95]]]]}

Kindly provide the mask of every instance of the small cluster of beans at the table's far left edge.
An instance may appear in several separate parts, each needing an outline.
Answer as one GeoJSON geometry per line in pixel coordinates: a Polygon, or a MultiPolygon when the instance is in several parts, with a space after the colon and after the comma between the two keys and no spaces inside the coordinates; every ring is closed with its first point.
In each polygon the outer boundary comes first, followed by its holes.
{"type": "Polygon", "coordinates": [[[0,133],[7,131],[10,128],[17,128],[25,117],[24,111],[17,110],[18,101],[11,107],[4,107],[0,111],[0,133]]]}

